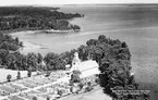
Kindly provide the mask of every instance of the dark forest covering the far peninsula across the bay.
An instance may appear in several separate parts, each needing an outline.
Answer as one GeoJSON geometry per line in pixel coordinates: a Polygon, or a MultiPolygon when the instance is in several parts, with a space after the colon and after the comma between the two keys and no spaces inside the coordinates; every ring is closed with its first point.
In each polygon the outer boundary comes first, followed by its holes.
{"type": "Polygon", "coordinates": [[[75,13],[63,13],[59,8],[0,7],[0,30],[80,30],[81,27],[68,20],[83,17],[75,13]]]}

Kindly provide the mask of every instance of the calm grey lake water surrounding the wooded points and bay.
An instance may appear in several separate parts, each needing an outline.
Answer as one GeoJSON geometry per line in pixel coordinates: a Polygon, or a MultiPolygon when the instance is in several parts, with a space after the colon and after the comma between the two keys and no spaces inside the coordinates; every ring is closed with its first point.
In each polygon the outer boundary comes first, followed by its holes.
{"type": "MultiPolygon", "coordinates": [[[[158,7],[156,5],[59,5],[60,11],[85,14],[70,21],[80,33],[15,33],[13,36],[33,45],[23,52],[57,52],[75,49],[88,39],[106,35],[125,41],[132,53],[137,82],[158,83],[158,7]],[[34,47],[35,45],[35,47],[34,47]],[[39,48],[42,47],[42,48],[39,48]]],[[[29,46],[28,45],[28,46],[29,46]]]]}

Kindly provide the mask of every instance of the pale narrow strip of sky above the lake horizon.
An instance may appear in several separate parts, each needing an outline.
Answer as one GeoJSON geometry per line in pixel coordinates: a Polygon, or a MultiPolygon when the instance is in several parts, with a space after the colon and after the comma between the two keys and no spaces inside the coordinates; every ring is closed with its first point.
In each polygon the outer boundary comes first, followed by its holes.
{"type": "Polygon", "coordinates": [[[107,4],[107,3],[158,3],[158,0],[0,0],[0,5],[19,5],[19,4],[107,4]]]}

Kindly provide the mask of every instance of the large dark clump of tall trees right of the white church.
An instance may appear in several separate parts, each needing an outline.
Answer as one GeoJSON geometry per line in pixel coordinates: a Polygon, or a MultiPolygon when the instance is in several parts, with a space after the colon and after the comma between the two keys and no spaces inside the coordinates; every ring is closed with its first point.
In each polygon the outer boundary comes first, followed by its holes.
{"type": "MultiPolygon", "coordinates": [[[[101,35],[98,37],[99,45],[95,46],[95,55],[99,63],[99,84],[104,88],[104,92],[118,99],[118,96],[112,90],[135,90],[136,83],[134,77],[131,77],[131,54],[125,42],[112,40],[101,35]],[[106,47],[101,47],[106,46],[106,47]],[[100,48],[97,54],[96,49],[100,48]]],[[[134,97],[122,97],[123,100],[133,99],[134,97]]]]}

